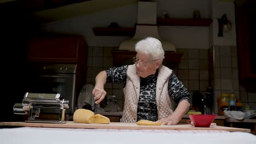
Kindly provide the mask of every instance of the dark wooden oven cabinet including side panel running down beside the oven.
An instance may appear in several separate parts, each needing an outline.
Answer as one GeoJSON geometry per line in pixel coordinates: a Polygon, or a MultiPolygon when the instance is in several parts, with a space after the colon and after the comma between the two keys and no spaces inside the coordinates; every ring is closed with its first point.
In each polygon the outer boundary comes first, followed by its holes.
{"type": "Polygon", "coordinates": [[[31,38],[28,44],[28,65],[77,64],[75,76],[75,99],[77,99],[80,89],[86,83],[88,45],[83,36],[45,34],[31,38]]]}

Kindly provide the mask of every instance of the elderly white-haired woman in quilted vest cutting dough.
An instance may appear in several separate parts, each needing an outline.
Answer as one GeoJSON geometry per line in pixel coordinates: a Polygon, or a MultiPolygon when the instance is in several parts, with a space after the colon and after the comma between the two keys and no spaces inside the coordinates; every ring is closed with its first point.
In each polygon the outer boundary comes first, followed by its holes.
{"type": "Polygon", "coordinates": [[[142,119],[175,125],[188,111],[191,96],[173,70],[162,65],[165,52],[158,39],[148,37],[135,45],[133,65],[101,71],[92,91],[96,104],[106,96],[106,82],[123,83],[123,122],[142,119]],[[177,104],[174,109],[175,103],[177,104]]]}

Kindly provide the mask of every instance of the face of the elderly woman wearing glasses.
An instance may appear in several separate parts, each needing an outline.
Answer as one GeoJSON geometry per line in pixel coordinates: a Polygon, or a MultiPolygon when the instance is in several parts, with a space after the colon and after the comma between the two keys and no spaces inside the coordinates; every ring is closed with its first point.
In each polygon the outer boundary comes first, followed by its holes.
{"type": "Polygon", "coordinates": [[[160,59],[152,59],[149,55],[137,52],[136,71],[143,78],[155,74],[156,69],[160,67],[160,59]]]}

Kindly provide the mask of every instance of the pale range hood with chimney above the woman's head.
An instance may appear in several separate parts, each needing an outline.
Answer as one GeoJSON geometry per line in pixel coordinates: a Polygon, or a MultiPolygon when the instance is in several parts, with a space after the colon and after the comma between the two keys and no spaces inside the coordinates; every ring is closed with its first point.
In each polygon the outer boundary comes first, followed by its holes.
{"type": "Polygon", "coordinates": [[[159,39],[164,51],[176,52],[175,46],[166,40],[162,40],[158,34],[158,25],[156,25],[156,2],[138,2],[135,35],[131,39],[123,41],[119,46],[119,50],[134,51],[137,41],[146,37],[159,39]]]}

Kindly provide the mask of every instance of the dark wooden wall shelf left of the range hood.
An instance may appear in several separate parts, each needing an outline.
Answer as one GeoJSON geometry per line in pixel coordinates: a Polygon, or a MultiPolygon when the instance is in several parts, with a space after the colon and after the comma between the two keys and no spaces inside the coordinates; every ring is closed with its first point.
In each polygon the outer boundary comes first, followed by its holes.
{"type": "Polygon", "coordinates": [[[95,27],[92,28],[95,35],[101,36],[128,36],[132,37],[135,34],[135,28],[104,28],[104,27],[95,27]]]}

